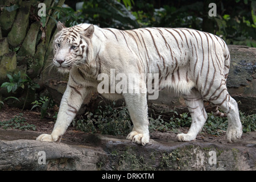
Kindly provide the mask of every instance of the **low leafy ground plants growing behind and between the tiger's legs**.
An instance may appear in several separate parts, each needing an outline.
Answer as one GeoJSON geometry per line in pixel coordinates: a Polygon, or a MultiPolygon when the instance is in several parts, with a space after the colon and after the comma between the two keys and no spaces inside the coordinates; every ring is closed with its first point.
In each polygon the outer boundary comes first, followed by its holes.
{"type": "MultiPolygon", "coordinates": [[[[175,131],[181,127],[190,127],[192,118],[188,113],[177,114],[176,111],[170,119],[163,119],[162,115],[156,117],[148,117],[150,133],[153,131],[175,131]]],[[[256,114],[245,115],[241,113],[241,122],[243,132],[256,131],[256,114]]],[[[126,106],[114,107],[98,106],[98,109],[92,112],[87,112],[85,118],[73,121],[73,125],[77,129],[92,133],[110,134],[110,135],[127,135],[132,129],[132,122],[129,111],[126,106]]],[[[216,117],[212,113],[208,113],[208,119],[203,127],[203,132],[211,135],[224,135],[228,128],[228,118],[216,117]]]]}

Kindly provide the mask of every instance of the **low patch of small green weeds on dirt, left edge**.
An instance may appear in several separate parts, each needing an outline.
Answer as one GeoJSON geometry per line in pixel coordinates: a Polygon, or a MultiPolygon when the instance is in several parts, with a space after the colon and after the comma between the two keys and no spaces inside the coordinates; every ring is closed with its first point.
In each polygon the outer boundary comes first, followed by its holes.
{"type": "Polygon", "coordinates": [[[23,114],[20,113],[15,115],[14,118],[11,118],[8,121],[0,121],[0,127],[3,129],[19,129],[19,130],[36,130],[35,125],[30,125],[26,122],[26,119],[23,117],[23,114]]]}

